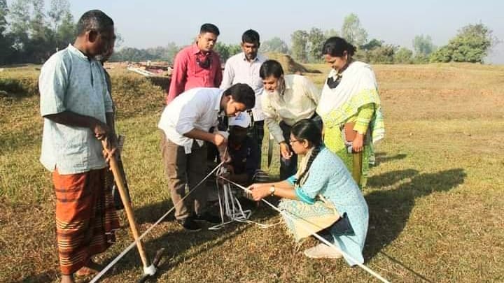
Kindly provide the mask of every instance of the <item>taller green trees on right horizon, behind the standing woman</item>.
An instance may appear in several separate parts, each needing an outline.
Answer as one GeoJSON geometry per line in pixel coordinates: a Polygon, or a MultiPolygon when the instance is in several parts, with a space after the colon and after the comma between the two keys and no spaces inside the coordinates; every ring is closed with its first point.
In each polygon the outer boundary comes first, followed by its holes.
{"type": "Polygon", "coordinates": [[[297,61],[316,63],[321,61],[322,45],[330,36],[342,36],[356,46],[355,57],[371,64],[425,64],[435,62],[472,62],[484,63],[498,38],[484,24],[468,24],[458,30],[447,45],[437,48],[428,35],[417,35],[412,41],[413,50],[385,43],[377,38],[368,40],[357,15],[344,18],[341,30],[322,31],[312,28],[310,31],[297,30],[290,35],[291,55],[297,61]]]}

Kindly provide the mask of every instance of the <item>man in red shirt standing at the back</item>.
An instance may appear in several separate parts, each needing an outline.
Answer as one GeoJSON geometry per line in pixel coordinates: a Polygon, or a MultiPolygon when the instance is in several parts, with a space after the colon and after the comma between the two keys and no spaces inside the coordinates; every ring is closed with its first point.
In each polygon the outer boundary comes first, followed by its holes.
{"type": "Polygon", "coordinates": [[[196,42],[176,55],[167,104],[188,89],[221,85],[221,59],[213,50],[219,34],[215,24],[203,24],[196,42]]]}

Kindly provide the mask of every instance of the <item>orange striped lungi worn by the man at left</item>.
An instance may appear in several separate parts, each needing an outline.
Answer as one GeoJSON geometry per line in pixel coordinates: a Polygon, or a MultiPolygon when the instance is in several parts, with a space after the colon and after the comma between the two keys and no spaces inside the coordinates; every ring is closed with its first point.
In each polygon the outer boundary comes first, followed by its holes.
{"type": "Polygon", "coordinates": [[[85,173],[52,174],[56,193],[56,238],[59,267],[63,275],[82,268],[94,254],[115,242],[119,218],[111,187],[105,183],[106,168],[85,173]]]}

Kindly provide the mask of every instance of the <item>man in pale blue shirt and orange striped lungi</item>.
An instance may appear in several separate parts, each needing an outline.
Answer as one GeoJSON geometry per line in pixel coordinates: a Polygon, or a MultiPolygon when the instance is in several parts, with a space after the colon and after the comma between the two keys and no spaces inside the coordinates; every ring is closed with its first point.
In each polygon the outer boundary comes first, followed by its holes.
{"type": "Polygon", "coordinates": [[[52,55],[38,79],[44,118],[41,163],[55,187],[60,282],[97,273],[92,261],[116,240],[119,218],[106,187],[106,160],[116,151],[113,103],[100,61],[116,39],[114,22],[89,10],[73,44],[52,55]],[[107,150],[103,150],[102,140],[107,150]]]}

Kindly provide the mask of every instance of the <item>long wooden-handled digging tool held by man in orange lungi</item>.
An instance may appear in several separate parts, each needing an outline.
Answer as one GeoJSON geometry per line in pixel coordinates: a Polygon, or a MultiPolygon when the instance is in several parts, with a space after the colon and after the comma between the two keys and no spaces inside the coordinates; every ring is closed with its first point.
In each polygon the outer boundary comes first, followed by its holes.
{"type": "MultiPolygon", "coordinates": [[[[104,150],[107,149],[107,141],[106,139],[102,140],[102,146],[104,147],[104,150]]],[[[130,203],[130,198],[128,197],[128,194],[125,189],[125,178],[123,177],[123,174],[120,172],[120,167],[118,165],[118,161],[116,159],[116,154],[113,154],[113,156],[110,158],[109,161],[109,166],[112,170],[112,174],[114,177],[114,180],[116,181],[117,187],[119,189],[119,194],[121,197],[121,200],[123,201],[124,205],[124,210],[126,212],[126,216],[128,219],[128,222],[130,223],[130,228],[133,233],[133,238],[135,241],[139,238],[139,231],[137,228],[137,222],[134,219],[134,213],[133,213],[133,208],[130,203]]],[[[144,244],[141,240],[137,242],[137,248],[140,254],[140,259],[142,263],[144,264],[144,277],[142,277],[141,282],[145,281],[146,277],[150,277],[155,275],[156,273],[156,267],[154,264],[149,261],[146,251],[144,249],[144,244]]],[[[156,255],[156,257],[160,257],[160,252],[156,255]]]]}

